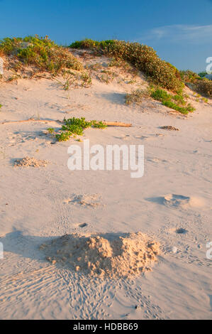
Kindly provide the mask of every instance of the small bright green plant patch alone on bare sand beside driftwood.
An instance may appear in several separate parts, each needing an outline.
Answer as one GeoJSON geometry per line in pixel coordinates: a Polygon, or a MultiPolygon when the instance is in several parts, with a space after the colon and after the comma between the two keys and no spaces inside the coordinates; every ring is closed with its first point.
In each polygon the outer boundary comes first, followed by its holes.
{"type": "Polygon", "coordinates": [[[56,134],[55,137],[58,141],[67,141],[71,136],[82,136],[84,129],[88,127],[94,127],[98,129],[105,129],[106,125],[103,122],[97,121],[86,121],[84,117],[79,118],[70,118],[64,119],[64,125],[62,125],[62,129],[60,134],[56,134]]]}

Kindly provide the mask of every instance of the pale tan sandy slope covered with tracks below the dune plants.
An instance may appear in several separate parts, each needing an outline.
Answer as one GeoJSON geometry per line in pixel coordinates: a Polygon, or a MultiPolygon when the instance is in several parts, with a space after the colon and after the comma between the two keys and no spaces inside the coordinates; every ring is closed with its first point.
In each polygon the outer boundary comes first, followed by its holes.
{"type": "Polygon", "coordinates": [[[51,144],[42,131],[57,123],[0,125],[0,241],[5,250],[0,317],[211,318],[211,260],[206,259],[206,242],[212,240],[211,104],[196,104],[198,110],[189,117],[157,102],[128,107],[124,94],[132,86],[93,82],[69,92],[45,79],[1,85],[1,122],[82,116],[131,122],[131,128],[87,129],[84,139],[103,146],[144,144],[145,174],[133,179],[129,171],[71,172],[67,147],[83,143],[51,144]],[[159,129],[164,125],[179,131],[159,129]],[[24,156],[51,163],[15,168],[14,160],[24,156]],[[67,200],[85,193],[99,194],[102,205],[90,208],[67,200]],[[197,200],[183,205],[184,198],[176,203],[168,194],[197,200]],[[38,249],[65,233],[137,231],[154,236],[163,252],[152,271],[136,279],[90,280],[52,266],[38,249]]]}

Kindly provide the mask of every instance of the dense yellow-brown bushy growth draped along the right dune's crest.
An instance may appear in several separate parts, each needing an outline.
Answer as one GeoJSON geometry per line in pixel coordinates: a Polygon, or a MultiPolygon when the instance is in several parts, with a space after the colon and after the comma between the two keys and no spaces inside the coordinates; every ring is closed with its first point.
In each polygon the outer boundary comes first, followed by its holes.
{"type": "Polygon", "coordinates": [[[167,90],[177,91],[183,87],[177,68],[160,59],[155,50],[147,45],[116,40],[98,42],[85,39],[72,43],[70,48],[90,48],[116,60],[125,60],[167,90]]]}

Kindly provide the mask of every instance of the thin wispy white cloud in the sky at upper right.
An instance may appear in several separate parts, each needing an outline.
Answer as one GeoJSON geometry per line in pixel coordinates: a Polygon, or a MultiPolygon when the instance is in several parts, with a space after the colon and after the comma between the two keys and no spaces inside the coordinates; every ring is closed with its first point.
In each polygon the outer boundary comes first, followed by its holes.
{"type": "Polygon", "coordinates": [[[193,26],[175,24],[172,26],[162,26],[153,28],[145,33],[139,41],[142,40],[155,40],[155,41],[166,41],[171,42],[182,42],[200,44],[200,43],[211,43],[212,39],[212,25],[208,26],[193,26]]]}

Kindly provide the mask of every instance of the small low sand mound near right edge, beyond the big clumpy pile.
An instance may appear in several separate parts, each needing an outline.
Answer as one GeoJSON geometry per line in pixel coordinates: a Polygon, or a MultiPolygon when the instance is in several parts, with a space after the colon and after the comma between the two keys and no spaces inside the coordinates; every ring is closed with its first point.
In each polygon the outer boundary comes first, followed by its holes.
{"type": "Polygon", "coordinates": [[[201,198],[168,194],[164,196],[164,205],[169,208],[199,208],[204,205],[201,198]]]}

